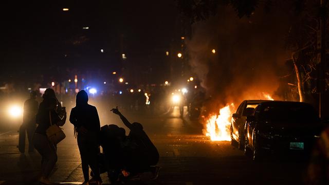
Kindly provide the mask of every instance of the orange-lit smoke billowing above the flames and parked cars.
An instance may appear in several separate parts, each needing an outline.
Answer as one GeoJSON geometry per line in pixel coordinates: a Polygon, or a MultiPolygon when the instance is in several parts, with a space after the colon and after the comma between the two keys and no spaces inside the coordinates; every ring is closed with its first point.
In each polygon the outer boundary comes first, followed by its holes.
{"type": "Polygon", "coordinates": [[[220,7],[216,16],[192,25],[186,43],[190,65],[212,97],[208,106],[213,111],[244,99],[265,99],[263,93],[273,95],[278,70],[289,58],[284,49],[289,29],[285,11],[258,8],[250,18],[240,19],[231,7],[220,7]]]}

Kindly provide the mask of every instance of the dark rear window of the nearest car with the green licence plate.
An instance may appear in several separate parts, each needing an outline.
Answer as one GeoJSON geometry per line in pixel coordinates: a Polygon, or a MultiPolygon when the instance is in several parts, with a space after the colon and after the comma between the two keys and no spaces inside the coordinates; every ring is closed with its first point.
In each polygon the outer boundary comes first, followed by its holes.
{"type": "Polygon", "coordinates": [[[317,120],[315,109],[307,104],[284,103],[265,105],[259,114],[261,120],[280,122],[313,122],[317,120]]]}

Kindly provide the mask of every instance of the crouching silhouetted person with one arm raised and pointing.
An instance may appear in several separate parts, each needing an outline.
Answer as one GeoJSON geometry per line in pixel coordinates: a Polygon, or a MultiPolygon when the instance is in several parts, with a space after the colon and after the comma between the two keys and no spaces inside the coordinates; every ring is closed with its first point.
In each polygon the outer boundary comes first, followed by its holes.
{"type": "Polygon", "coordinates": [[[143,126],[140,123],[130,123],[119,112],[118,107],[111,111],[119,115],[124,125],[130,129],[128,140],[131,150],[126,156],[126,170],[130,173],[148,171],[150,165],[156,165],[159,161],[158,150],[143,131],[143,126]]]}

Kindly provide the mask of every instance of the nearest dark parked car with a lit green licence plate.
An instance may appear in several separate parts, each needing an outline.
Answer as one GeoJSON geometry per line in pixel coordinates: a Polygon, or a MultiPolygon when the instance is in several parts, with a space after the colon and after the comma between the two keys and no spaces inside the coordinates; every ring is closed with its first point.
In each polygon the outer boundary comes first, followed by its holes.
{"type": "Polygon", "coordinates": [[[245,153],[258,160],[266,152],[307,156],[319,139],[322,124],[308,103],[269,101],[260,103],[245,125],[245,153]]]}

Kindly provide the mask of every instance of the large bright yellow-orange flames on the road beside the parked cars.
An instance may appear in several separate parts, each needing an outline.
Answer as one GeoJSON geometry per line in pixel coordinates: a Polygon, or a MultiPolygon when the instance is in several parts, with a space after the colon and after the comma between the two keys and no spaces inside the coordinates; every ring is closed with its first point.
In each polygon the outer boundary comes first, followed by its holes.
{"type": "Polygon", "coordinates": [[[220,109],[219,115],[212,115],[207,120],[207,133],[212,141],[230,141],[230,120],[234,104],[227,105],[220,109]]]}

